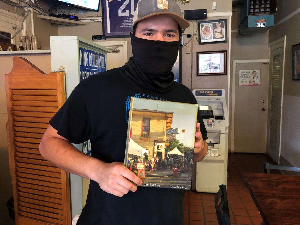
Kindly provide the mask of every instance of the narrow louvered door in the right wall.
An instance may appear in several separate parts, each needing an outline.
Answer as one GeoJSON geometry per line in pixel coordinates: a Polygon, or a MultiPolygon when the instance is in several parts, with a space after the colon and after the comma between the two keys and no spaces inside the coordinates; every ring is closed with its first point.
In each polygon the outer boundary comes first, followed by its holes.
{"type": "Polygon", "coordinates": [[[267,154],[278,163],[281,124],[283,47],[270,53],[267,154]]]}

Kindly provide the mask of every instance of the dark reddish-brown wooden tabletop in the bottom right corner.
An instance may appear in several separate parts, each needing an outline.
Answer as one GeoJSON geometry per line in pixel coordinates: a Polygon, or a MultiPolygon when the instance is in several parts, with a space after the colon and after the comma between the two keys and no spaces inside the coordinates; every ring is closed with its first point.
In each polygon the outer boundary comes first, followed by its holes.
{"type": "Polygon", "coordinates": [[[300,225],[300,176],[243,173],[266,225],[300,225]]]}

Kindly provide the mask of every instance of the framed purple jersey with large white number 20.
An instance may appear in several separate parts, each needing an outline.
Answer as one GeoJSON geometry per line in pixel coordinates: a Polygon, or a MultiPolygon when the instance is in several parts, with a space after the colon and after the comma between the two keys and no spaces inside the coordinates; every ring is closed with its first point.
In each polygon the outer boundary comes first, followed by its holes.
{"type": "Polygon", "coordinates": [[[104,37],[130,37],[138,0],[103,0],[102,28],[104,37]]]}

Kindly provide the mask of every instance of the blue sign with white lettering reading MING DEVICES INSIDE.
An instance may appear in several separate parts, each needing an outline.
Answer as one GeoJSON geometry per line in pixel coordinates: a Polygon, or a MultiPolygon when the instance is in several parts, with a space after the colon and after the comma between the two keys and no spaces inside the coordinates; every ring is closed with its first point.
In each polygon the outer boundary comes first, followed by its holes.
{"type": "MultiPolygon", "coordinates": [[[[105,55],[79,47],[80,81],[92,74],[106,71],[105,55]]],[[[82,143],[82,152],[91,155],[92,148],[90,140],[82,143]]]]}

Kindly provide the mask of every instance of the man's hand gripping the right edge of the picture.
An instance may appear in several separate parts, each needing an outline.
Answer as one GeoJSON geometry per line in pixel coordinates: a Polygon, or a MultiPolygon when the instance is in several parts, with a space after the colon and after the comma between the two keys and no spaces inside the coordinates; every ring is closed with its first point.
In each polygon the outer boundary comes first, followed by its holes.
{"type": "Polygon", "coordinates": [[[193,162],[199,162],[207,154],[207,143],[202,138],[202,134],[201,134],[201,131],[200,131],[200,123],[196,124],[195,137],[196,137],[196,139],[195,139],[195,144],[194,144],[193,162]]]}

